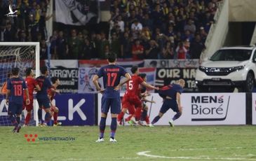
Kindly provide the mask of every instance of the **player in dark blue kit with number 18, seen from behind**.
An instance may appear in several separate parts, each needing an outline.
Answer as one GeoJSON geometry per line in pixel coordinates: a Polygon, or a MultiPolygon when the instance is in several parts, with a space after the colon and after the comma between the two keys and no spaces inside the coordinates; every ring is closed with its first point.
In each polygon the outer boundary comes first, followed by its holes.
{"type": "Polygon", "coordinates": [[[15,125],[13,132],[20,132],[20,115],[23,106],[23,89],[27,95],[26,104],[29,102],[29,91],[26,82],[19,76],[20,69],[13,68],[12,77],[7,81],[6,104],[8,104],[8,117],[15,125]],[[10,99],[9,99],[10,97],[10,99]]]}

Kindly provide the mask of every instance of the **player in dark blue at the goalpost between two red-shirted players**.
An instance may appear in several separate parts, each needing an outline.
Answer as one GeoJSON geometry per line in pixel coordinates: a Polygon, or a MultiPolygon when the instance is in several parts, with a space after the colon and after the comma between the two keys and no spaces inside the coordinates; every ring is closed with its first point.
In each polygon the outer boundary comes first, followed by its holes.
{"type": "Polygon", "coordinates": [[[52,117],[52,112],[50,111],[50,99],[48,98],[48,89],[52,86],[50,83],[50,80],[47,78],[49,75],[49,71],[46,66],[42,66],[41,69],[41,76],[36,78],[37,83],[39,84],[39,87],[41,88],[40,91],[36,93],[36,100],[39,104],[39,111],[38,111],[38,117],[39,117],[39,125],[47,125],[47,123],[50,121],[50,118],[52,117]],[[44,123],[42,123],[42,109],[46,111],[46,116],[44,119],[44,123]]]}

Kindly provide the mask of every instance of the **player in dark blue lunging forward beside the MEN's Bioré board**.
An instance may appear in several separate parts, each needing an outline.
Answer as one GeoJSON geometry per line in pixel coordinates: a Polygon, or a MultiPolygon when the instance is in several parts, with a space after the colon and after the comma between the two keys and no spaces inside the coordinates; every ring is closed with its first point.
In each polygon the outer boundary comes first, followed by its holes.
{"type": "Polygon", "coordinates": [[[159,95],[163,97],[163,105],[159,111],[159,115],[152,120],[149,126],[154,126],[154,123],[159,121],[159,119],[163,116],[168,109],[172,109],[176,112],[175,116],[169,121],[171,127],[173,127],[173,121],[180,118],[182,115],[182,106],[180,104],[180,94],[183,92],[183,87],[185,85],[185,80],[180,79],[177,81],[177,84],[170,84],[163,86],[159,90],[159,95]]]}

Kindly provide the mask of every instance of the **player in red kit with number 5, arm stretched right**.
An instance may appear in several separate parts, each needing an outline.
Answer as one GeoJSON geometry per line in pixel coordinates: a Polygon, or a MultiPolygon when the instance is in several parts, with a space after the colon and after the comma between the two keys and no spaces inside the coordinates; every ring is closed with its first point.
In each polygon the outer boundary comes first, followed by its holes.
{"type": "MultiPolygon", "coordinates": [[[[144,87],[148,87],[154,90],[159,90],[159,87],[154,87],[152,85],[147,84],[139,75],[138,67],[133,66],[130,71],[133,73],[131,80],[128,81],[126,87],[126,93],[123,96],[122,100],[122,111],[119,113],[117,117],[119,125],[121,125],[121,120],[123,119],[124,113],[126,113],[127,109],[133,108],[133,106],[142,109],[142,101],[140,97],[138,97],[138,89],[139,85],[143,85],[144,87]]],[[[136,114],[133,114],[131,120],[133,123],[136,123],[134,118],[136,114]]]]}

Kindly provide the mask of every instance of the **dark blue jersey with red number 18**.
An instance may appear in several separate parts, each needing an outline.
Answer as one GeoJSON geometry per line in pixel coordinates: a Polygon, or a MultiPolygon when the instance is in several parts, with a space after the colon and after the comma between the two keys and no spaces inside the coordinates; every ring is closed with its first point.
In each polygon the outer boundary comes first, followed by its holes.
{"type": "Polygon", "coordinates": [[[17,104],[23,104],[23,89],[26,89],[27,85],[25,79],[11,78],[7,81],[7,90],[11,90],[11,97],[9,102],[15,102],[17,104]]]}

